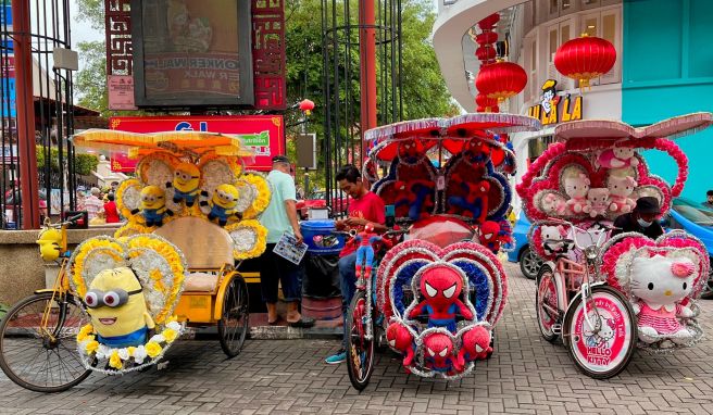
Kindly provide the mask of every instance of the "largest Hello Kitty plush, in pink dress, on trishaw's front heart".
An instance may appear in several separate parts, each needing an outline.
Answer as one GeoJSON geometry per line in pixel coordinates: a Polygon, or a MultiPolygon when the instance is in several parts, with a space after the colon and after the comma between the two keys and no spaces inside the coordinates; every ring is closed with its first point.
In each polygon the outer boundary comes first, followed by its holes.
{"type": "Polygon", "coordinates": [[[638,315],[641,341],[653,343],[664,337],[685,344],[692,339],[693,332],[678,318],[693,316],[680,302],[690,294],[696,277],[696,265],[686,257],[656,254],[634,260],[630,286],[631,294],[638,299],[634,313],[638,315]]]}

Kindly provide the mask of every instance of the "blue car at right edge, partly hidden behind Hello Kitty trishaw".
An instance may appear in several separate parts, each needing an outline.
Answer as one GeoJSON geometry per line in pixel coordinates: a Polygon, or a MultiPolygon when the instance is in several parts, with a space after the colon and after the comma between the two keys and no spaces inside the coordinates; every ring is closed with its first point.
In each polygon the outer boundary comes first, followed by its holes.
{"type": "MultiPolygon", "coordinates": [[[[713,262],[713,210],[690,199],[676,198],[668,217],[663,218],[662,225],[666,229],[684,229],[700,239],[713,262]]],[[[713,299],[713,273],[709,275],[701,298],[713,299]]]]}

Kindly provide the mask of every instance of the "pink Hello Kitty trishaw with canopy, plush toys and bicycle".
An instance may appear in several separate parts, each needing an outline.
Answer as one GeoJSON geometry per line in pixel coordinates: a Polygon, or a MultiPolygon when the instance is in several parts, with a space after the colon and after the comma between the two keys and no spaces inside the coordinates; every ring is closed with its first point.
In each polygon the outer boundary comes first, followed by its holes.
{"type": "Polygon", "coordinates": [[[673,139],[712,120],[695,113],[646,128],[615,121],[562,124],[556,142],[516,187],[535,221],[529,243],[546,261],[537,276],[538,327],[550,342],[561,338],[592,378],[621,373],[635,349],[675,351],[702,337],[696,300],[710,269],[705,247],[679,230],[656,240],[636,232],[611,236],[613,221],[641,197],[655,198],[661,215],[671,209],[688,175],[686,154],[673,139]],[[641,150],[675,161],[673,186],[649,171],[641,150]]]}

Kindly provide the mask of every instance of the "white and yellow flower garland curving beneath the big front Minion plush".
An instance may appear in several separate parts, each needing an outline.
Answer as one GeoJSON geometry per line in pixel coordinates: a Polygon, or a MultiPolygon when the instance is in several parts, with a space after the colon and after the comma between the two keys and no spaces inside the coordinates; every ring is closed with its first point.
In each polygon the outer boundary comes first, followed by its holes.
{"type": "Polygon", "coordinates": [[[153,364],[163,356],[171,344],[184,332],[185,325],[176,322],[173,316],[168,319],[161,334],[155,335],[138,347],[110,348],[97,340],[95,329],[88,324],[79,330],[77,344],[79,354],[83,356],[87,368],[108,375],[133,372],[153,364]],[[148,362],[146,360],[149,359],[148,362]],[[92,365],[95,361],[109,361],[107,368],[101,365],[92,365]]]}

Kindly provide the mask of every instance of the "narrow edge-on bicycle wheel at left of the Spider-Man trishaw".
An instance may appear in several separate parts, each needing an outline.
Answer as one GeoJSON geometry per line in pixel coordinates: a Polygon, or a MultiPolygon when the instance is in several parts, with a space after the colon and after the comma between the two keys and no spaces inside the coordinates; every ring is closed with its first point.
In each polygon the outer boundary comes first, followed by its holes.
{"type": "Polygon", "coordinates": [[[374,319],[366,318],[365,313],[366,294],[358,290],[347,316],[347,327],[350,328],[347,337],[347,367],[349,380],[359,391],[366,388],[374,370],[374,339],[365,338],[367,326],[374,332],[374,319]]]}

